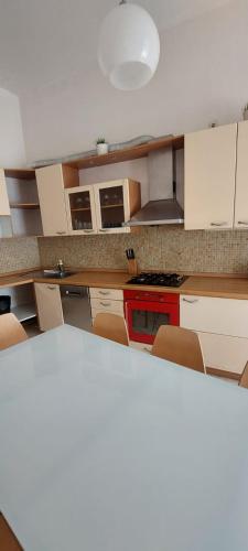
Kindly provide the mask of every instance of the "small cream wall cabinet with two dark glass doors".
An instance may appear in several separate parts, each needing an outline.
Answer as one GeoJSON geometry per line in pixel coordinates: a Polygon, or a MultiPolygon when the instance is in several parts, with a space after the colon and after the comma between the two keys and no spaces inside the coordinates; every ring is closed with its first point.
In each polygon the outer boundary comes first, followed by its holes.
{"type": "Polygon", "coordinates": [[[140,184],[114,180],[65,191],[69,234],[126,234],[122,226],[140,208],[140,184]]]}

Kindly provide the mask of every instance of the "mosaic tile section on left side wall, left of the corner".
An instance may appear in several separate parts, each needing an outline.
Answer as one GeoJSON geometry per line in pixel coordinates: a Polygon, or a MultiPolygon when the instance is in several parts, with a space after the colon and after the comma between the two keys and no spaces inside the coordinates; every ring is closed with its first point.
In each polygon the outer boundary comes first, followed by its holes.
{"type": "Polygon", "coordinates": [[[40,266],[35,237],[0,239],[0,273],[40,266]]]}

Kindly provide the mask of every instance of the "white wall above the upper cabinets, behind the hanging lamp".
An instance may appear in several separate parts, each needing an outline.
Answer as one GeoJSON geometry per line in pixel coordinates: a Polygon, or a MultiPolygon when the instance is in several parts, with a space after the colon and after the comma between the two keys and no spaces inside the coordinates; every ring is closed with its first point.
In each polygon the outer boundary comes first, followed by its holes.
{"type": "MultiPolygon", "coordinates": [[[[22,98],[29,161],[90,149],[142,133],[180,133],[240,120],[248,101],[248,2],[233,0],[161,36],[155,77],[143,89],[115,90],[97,62],[69,82],[22,98]]],[[[79,56],[79,54],[78,54],[79,56]]]]}

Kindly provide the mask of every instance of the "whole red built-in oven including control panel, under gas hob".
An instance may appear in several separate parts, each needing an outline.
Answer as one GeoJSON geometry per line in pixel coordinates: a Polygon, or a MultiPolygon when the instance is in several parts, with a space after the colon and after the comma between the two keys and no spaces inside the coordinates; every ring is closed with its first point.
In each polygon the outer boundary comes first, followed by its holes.
{"type": "Polygon", "coordinates": [[[170,292],[123,291],[130,341],[153,344],[160,325],[180,324],[180,295],[170,292]]]}

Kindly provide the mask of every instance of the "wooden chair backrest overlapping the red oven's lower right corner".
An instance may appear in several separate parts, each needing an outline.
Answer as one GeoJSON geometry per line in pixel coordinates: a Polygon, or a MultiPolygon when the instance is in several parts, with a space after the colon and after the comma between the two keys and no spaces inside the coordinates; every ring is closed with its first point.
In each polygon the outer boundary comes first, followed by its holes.
{"type": "Polygon", "coordinates": [[[198,335],[174,325],[161,325],[152,347],[153,356],[205,372],[198,335]]]}

